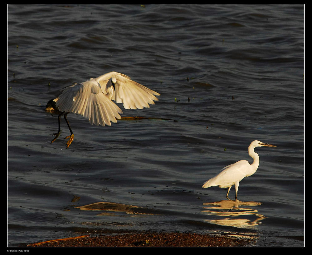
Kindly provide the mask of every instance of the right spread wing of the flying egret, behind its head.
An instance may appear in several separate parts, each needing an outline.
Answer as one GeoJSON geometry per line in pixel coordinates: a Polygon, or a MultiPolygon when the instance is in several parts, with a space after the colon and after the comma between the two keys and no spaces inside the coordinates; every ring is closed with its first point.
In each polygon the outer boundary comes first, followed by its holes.
{"type": "MultiPolygon", "coordinates": [[[[117,80],[112,100],[115,100],[117,103],[122,103],[125,109],[149,108],[149,104],[155,104],[154,101],[158,101],[158,98],[154,95],[160,94],[132,81],[129,76],[118,72],[109,72],[94,80],[100,84],[102,90],[105,90],[107,82],[112,77],[117,80]]],[[[103,93],[106,92],[103,91],[103,93]]]]}

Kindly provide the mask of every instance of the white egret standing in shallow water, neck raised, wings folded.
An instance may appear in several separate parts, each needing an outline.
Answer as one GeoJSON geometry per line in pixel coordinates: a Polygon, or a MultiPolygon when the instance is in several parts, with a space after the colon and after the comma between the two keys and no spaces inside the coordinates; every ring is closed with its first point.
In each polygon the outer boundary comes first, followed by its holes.
{"type": "Polygon", "coordinates": [[[227,199],[232,185],[235,185],[235,200],[237,200],[237,191],[239,182],[247,176],[256,172],[259,166],[259,155],[254,152],[254,148],[261,146],[276,147],[275,145],[263,143],[261,141],[252,141],[248,147],[248,154],[253,158],[253,163],[249,164],[247,160],[240,160],[232,165],[221,169],[221,172],[204,183],[202,188],[219,186],[220,188],[229,188],[227,190],[227,199]]]}

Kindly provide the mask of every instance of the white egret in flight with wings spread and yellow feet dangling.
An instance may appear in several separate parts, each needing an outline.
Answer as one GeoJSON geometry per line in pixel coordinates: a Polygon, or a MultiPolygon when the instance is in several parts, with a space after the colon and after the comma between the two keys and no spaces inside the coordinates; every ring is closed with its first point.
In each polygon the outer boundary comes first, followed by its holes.
{"type": "Polygon", "coordinates": [[[54,134],[56,137],[51,143],[61,133],[60,118],[63,114],[71,132],[70,136],[64,138],[69,138],[66,144],[68,148],[74,139],[74,133],[67,120],[67,114],[81,114],[88,118],[92,125],[110,126],[110,122],[116,123],[116,118],[120,119],[119,114],[122,114],[122,110],[112,100],[123,103],[125,109],[143,109],[158,101],[154,95],[160,94],[118,72],[109,72],[80,84],[75,83],[63,89],[61,95],[53,100],[61,114],[58,116],[58,132],[54,134]]]}

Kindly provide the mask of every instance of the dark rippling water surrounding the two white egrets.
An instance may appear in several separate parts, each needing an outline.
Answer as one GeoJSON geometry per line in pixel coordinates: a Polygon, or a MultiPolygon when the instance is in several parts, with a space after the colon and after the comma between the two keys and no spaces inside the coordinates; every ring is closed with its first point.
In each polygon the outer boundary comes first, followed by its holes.
{"type": "MultiPolygon", "coordinates": [[[[304,5],[8,5],[8,246],[180,231],[304,246],[304,5]],[[111,127],[46,103],[116,71],[161,94],[111,127]],[[240,202],[202,189],[247,159],[240,202]]],[[[234,198],[232,188],[230,197],[234,198]]]]}

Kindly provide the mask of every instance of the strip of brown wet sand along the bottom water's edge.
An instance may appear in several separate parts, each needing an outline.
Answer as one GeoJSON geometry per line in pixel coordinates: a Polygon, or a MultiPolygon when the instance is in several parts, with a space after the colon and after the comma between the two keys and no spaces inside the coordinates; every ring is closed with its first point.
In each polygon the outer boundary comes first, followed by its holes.
{"type": "Polygon", "coordinates": [[[248,240],[195,233],[139,233],[80,236],[32,243],[28,247],[240,247],[248,240]]]}

